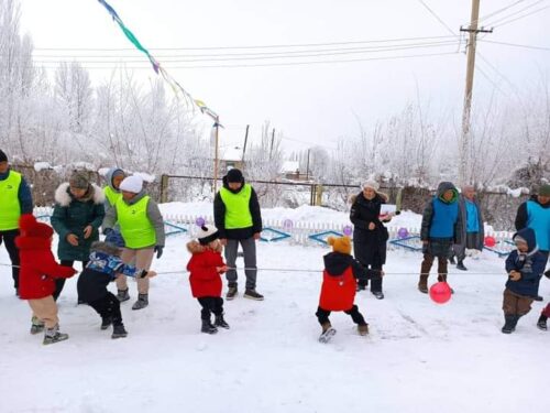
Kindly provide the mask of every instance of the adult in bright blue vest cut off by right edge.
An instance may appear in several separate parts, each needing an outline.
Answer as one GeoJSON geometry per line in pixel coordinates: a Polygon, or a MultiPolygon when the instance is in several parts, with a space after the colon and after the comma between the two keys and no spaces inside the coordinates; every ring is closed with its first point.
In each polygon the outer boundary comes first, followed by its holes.
{"type": "MultiPolygon", "coordinates": [[[[537,236],[537,246],[544,257],[544,267],[550,253],[550,185],[540,185],[537,195],[522,203],[516,214],[516,230],[531,228],[537,236]]],[[[537,283],[537,291],[540,279],[537,283]]],[[[538,294],[535,301],[542,301],[538,294]]]]}

